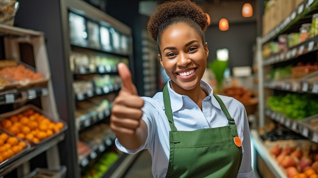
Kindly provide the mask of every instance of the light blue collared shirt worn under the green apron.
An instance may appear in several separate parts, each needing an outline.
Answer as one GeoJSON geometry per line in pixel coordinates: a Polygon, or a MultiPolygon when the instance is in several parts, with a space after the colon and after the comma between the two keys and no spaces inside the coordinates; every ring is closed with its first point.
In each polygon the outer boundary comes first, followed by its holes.
{"type": "MultiPolygon", "coordinates": [[[[202,101],[202,111],[188,96],[174,92],[168,85],[173,120],[177,130],[193,131],[229,125],[228,119],[213,96],[212,88],[203,80],[201,80],[201,88],[209,94],[202,101]]],[[[235,120],[238,135],[242,140],[243,158],[237,177],[253,177],[249,125],[244,105],[232,97],[221,95],[219,97],[235,120]]],[[[125,149],[118,139],[115,140],[115,144],[120,151],[129,154],[147,149],[152,157],[153,176],[165,177],[169,165],[169,131],[171,129],[164,110],[163,92],[157,92],[152,98],[142,98],[145,100],[142,120],[145,121],[148,129],[146,142],[137,150],[125,149]]]]}

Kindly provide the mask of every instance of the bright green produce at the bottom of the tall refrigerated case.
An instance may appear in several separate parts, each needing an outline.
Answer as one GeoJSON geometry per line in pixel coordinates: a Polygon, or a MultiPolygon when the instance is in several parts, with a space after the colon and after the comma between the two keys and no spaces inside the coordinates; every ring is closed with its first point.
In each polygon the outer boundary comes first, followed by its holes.
{"type": "Polygon", "coordinates": [[[103,174],[112,166],[112,164],[118,159],[118,154],[115,152],[107,152],[102,155],[99,160],[90,165],[87,170],[84,171],[82,178],[99,178],[103,177],[103,174]]]}

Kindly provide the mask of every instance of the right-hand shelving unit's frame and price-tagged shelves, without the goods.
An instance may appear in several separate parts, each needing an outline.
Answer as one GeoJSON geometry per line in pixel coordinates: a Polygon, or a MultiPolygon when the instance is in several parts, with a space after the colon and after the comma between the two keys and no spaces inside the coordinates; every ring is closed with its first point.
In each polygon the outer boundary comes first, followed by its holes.
{"type": "MultiPolygon", "coordinates": [[[[285,20],[279,23],[268,34],[262,38],[257,39],[257,63],[259,68],[259,127],[264,127],[270,122],[280,124],[293,130],[296,133],[303,135],[310,141],[318,143],[318,129],[312,128],[308,124],[308,118],[296,120],[290,118],[282,113],[275,112],[268,108],[266,105],[267,99],[270,96],[278,95],[281,93],[297,93],[317,97],[318,95],[318,80],[308,80],[310,77],[316,76],[318,72],[311,73],[299,79],[268,79],[270,71],[274,68],[288,65],[296,65],[301,61],[317,60],[318,51],[318,37],[314,36],[300,43],[296,46],[290,47],[285,52],[271,54],[269,57],[264,58],[262,48],[267,43],[277,40],[280,34],[297,32],[302,23],[311,23],[311,16],[317,13],[318,1],[305,0],[303,1],[285,20]]],[[[317,111],[318,112],[318,111],[317,111]]],[[[286,173],[281,170],[276,160],[269,154],[264,141],[260,139],[258,131],[251,130],[251,141],[254,150],[258,153],[261,159],[268,167],[275,177],[287,177],[286,173]]]]}

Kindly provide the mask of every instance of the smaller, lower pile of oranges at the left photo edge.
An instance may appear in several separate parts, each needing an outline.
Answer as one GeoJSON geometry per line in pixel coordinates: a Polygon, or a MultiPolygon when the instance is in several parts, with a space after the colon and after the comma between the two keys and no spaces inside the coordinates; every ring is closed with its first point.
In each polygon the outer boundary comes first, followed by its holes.
{"type": "Polygon", "coordinates": [[[27,145],[17,137],[10,136],[7,133],[0,133],[0,163],[18,154],[27,145]]]}

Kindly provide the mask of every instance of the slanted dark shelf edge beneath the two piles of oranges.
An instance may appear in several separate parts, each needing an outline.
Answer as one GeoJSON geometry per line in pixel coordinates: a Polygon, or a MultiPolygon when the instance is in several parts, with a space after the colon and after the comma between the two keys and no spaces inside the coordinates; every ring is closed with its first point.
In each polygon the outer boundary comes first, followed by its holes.
{"type": "Polygon", "coordinates": [[[19,167],[26,161],[29,161],[30,159],[38,156],[39,154],[49,150],[51,147],[57,145],[61,140],[63,140],[64,137],[65,134],[61,132],[58,135],[55,135],[54,137],[45,141],[43,144],[31,147],[24,154],[18,155],[14,159],[9,159],[8,162],[6,162],[0,167],[0,176],[6,175],[7,173],[19,167]]]}

